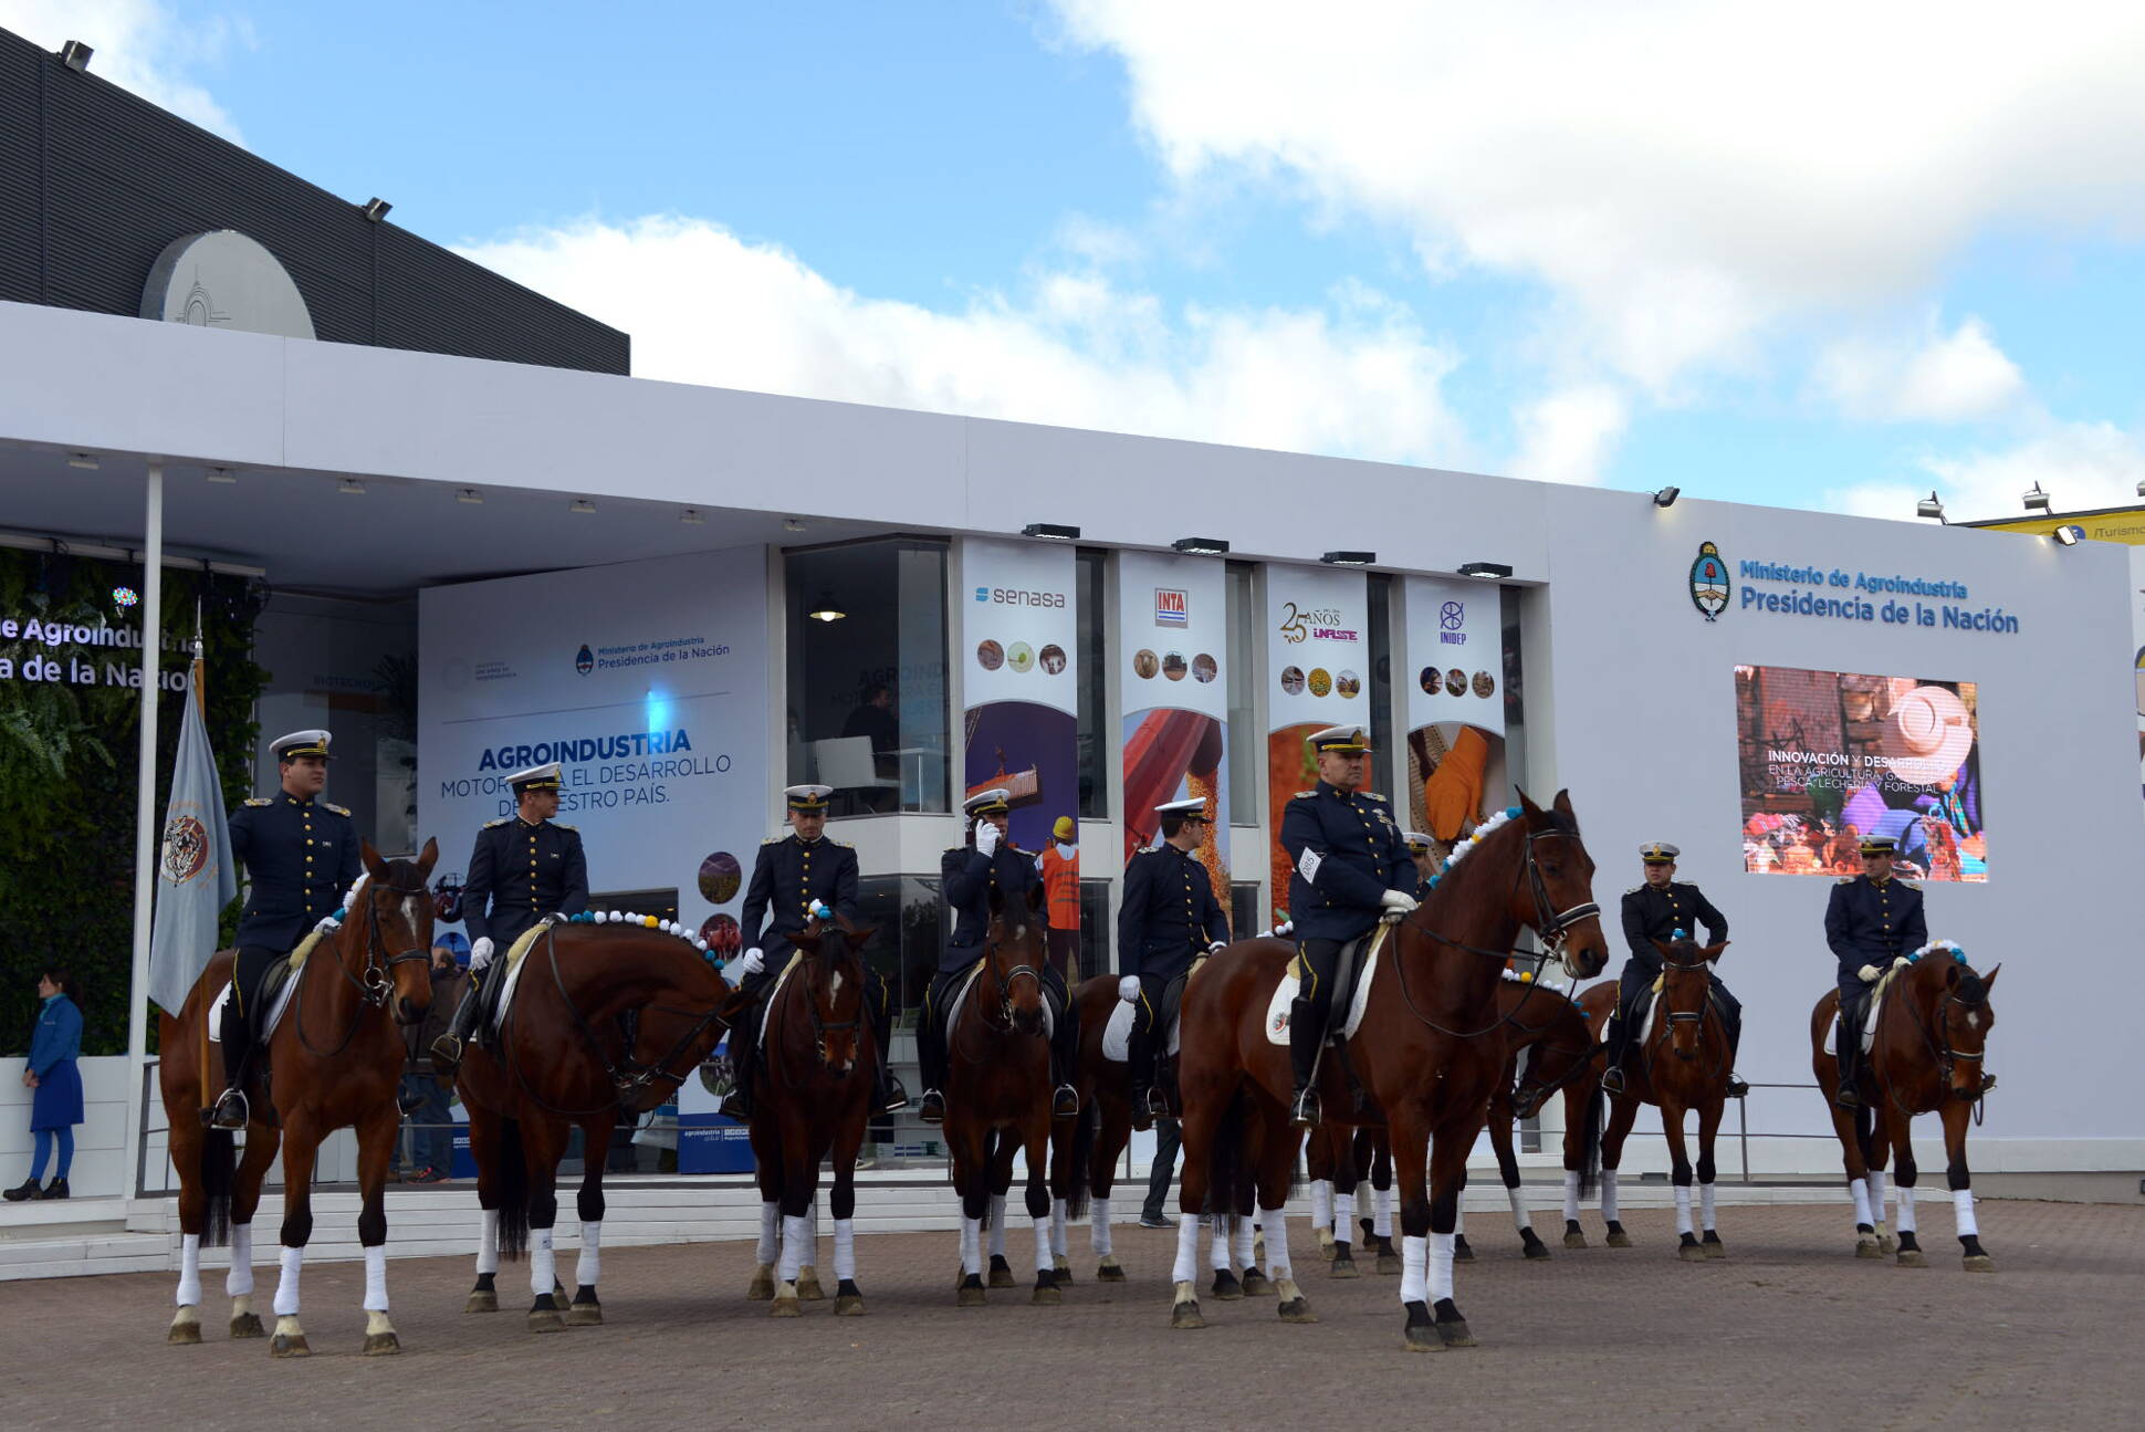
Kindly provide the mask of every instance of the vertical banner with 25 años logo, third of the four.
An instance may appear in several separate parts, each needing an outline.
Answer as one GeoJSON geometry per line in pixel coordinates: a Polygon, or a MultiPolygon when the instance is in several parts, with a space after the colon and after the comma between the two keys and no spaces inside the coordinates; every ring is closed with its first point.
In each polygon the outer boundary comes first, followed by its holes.
{"type": "Polygon", "coordinates": [[[1338,725],[1371,729],[1371,605],[1364,575],[1332,566],[1266,568],[1266,797],[1272,898],[1285,909],[1289,857],[1281,812],[1317,782],[1304,737],[1338,725]]]}

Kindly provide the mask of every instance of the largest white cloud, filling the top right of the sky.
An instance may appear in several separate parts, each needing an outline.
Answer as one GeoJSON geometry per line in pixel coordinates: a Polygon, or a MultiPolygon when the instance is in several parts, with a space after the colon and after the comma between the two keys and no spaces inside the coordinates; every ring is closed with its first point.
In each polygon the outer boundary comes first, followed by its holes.
{"type": "Polygon", "coordinates": [[[1995,221],[2145,227],[2145,6],[1055,0],[1182,180],[1266,176],[1570,300],[1656,394],[1995,221]]]}

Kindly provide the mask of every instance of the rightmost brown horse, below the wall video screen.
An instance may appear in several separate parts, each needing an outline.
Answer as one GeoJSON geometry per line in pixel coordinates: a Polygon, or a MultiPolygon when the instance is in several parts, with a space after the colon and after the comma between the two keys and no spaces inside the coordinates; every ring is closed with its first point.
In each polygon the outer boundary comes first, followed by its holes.
{"type": "MultiPolygon", "coordinates": [[[[1825,1031],[1838,1018],[1840,993],[1825,990],[1810,1010],[1810,1068],[1832,1110],[1832,1130],[1847,1166],[1847,1190],[1855,1200],[1855,1256],[1881,1258],[1890,1241],[1883,1228],[1883,1170],[1898,1164],[1898,1265],[1928,1267],[1913,1218],[1915,1115],[1935,1113],[1943,1121],[1946,1181],[1952,1190],[1958,1245],[1969,1273],[1993,1273],[1995,1258],[1982,1248],[1973,1220],[1973,1175],[1967,1170],[1967,1125],[1980,1121],[1982,1093],[1995,1078],[1982,1072],[1988,1029],[1997,1023],[1988,990],[1997,965],[1986,975],[1967,965],[1956,945],[1930,945],[1920,956],[1894,963],[1892,986],[1877,1010],[1877,1038],[1864,1055],[1860,1110],[1834,1104],[1840,1065],[1825,1050],[1825,1031]]],[[[1840,1038],[1855,1038],[1840,1031],[1840,1038]]]]}

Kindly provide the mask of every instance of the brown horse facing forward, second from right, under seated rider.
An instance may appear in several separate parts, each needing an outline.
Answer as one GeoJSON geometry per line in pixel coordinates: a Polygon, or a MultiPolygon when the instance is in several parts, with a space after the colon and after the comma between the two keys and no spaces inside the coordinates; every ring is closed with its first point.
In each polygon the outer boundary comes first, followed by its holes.
{"type": "MultiPolygon", "coordinates": [[[[1624,1162],[1624,1140],[1639,1117],[1639,1104],[1660,1108],[1660,1132],[1669,1140],[1669,1177],[1675,1183],[1675,1256],[1684,1263],[1727,1258],[1714,1224],[1714,1136],[1720,1132],[1720,1110],[1729,1098],[1729,1031],[1714,1005],[1714,960],[1729,941],[1699,945],[1692,939],[1656,939],[1660,950],[1660,993],[1654,995],[1650,1027],[1630,1042],[1624,1055],[1624,1093],[1609,1100],[1609,1132],[1602,1134],[1602,1220],[1609,1224],[1609,1245],[1630,1248],[1630,1235],[1617,1218],[1615,1177],[1624,1162]],[[1699,1224],[1690,1218],[1690,1155],[1684,1149],[1684,1115],[1699,1115],[1699,1224]],[[1703,1233],[1703,1237],[1699,1237],[1703,1233]]],[[[1617,986],[1598,984],[1579,997],[1587,1023],[1600,1038],[1615,1014],[1617,986]]],[[[1577,1203],[1566,1209],[1577,1226],[1577,1203]]],[[[1581,1235],[1581,1245],[1585,1235],[1581,1235]]],[[[1572,1245],[1570,1226],[1566,1245],[1572,1245]]]]}

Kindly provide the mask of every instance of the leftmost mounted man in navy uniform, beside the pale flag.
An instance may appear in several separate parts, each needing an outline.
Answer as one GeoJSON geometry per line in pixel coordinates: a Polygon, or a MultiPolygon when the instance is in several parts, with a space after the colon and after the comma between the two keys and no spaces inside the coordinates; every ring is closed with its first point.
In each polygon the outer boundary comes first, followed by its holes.
{"type": "Polygon", "coordinates": [[[223,1068],[230,1087],[210,1123],[247,1125],[247,1080],[262,975],[322,920],[341,909],[358,879],[358,830],[350,812],[320,800],[328,785],[328,733],[292,731],[268,742],[283,789],[232,812],[232,855],[247,868],[247,905],[238,915],[238,960],[223,1005],[223,1068]]]}

